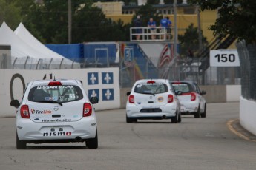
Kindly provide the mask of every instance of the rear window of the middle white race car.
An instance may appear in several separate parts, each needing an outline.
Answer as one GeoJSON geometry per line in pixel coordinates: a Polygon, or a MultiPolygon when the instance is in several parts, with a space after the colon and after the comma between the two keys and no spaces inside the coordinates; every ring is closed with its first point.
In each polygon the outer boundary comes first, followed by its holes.
{"type": "Polygon", "coordinates": [[[141,93],[141,94],[160,94],[160,93],[168,92],[168,87],[166,84],[162,84],[162,83],[154,83],[154,84],[141,83],[135,86],[134,92],[141,93]]]}

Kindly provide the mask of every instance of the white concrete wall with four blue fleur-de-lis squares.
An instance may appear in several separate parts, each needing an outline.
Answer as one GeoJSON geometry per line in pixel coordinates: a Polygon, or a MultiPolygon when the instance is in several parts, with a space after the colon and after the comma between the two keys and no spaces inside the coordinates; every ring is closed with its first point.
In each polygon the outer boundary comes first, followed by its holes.
{"type": "Polygon", "coordinates": [[[15,115],[16,109],[10,106],[12,94],[13,99],[22,101],[27,83],[44,77],[46,79],[55,77],[82,81],[88,95],[93,91],[98,93],[99,103],[94,105],[96,110],[120,108],[119,68],[116,67],[62,70],[0,69],[0,117],[15,115]],[[93,78],[90,77],[92,73],[93,78]],[[108,78],[105,78],[106,73],[108,73],[108,78]],[[93,83],[91,80],[94,80],[93,83]],[[106,98],[109,96],[111,98],[106,98]]]}

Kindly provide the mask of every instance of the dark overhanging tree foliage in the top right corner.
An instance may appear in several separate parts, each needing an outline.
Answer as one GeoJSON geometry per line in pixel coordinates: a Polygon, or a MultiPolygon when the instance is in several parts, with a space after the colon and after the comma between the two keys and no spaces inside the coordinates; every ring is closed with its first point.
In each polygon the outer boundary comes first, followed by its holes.
{"type": "Polygon", "coordinates": [[[233,35],[246,43],[256,42],[255,0],[188,0],[203,10],[218,10],[219,17],[209,27],[215,36],[233,35]]]}

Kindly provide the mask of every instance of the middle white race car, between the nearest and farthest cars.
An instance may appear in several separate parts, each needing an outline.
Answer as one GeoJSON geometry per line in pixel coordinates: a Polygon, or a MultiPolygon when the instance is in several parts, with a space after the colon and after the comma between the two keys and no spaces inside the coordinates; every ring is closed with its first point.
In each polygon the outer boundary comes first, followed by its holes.
{"type": "Polygon", "coordinates": [[[126,122],[138,119],[171,119],[171,123],[181,121],[180,102],[170,82],[165,79],[136,81],[128,92],[126,122]]]}

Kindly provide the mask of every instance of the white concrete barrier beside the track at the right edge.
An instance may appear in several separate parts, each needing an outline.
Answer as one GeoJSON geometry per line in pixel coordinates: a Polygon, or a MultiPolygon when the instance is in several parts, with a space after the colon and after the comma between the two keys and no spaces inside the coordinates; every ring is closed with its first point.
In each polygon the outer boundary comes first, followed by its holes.
{"type": "Polygon", "coordinates": [[[240,124],[256,135],[256,102],[240,97],[240,124]]]}

